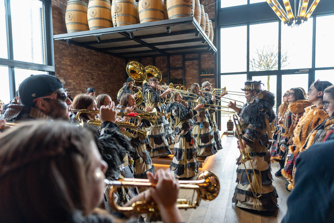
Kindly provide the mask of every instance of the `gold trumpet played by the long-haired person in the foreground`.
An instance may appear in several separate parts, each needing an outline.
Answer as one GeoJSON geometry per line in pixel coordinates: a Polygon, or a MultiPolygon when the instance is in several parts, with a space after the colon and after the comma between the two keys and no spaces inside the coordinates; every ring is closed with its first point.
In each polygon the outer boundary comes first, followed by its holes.
{"type": "MultiPolygon", "coordinates": [[[[154,203],[147,203],[146,201],[137,201],[130,207],[120,207],[114,203],[114,193],[119,187],[155,187],[155,183],[150,183],[146,179],[133,179],[125,178],[118,181],[105,180],[105,183],[111,185],[109,192],[110,205],[116,209],[116,211],[123,213],[153,213],[158,210],[158,206],[154,203]]],[[[204,201],[212,201],[218,196],[220,185],[218,177],[212,171],[201,172],[195,181],[179,181],[180,188],[193,189],[194,194],[190,201],[187,199],[177,199],[177,208],[196,208],[199,205],[201,199],[204,201]],[[197,198],[194,201],[195,191],[197,192],[197,198]]]]}

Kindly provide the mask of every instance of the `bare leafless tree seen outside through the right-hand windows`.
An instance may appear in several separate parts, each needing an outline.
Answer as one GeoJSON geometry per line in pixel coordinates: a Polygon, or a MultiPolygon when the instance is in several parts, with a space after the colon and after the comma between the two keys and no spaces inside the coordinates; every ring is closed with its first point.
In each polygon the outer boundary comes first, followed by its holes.
{"type": "MultiPolygon", "coordinates": [[[[278,50],[275,45],[267,45],[255,48],[255,56],[249,59],[249,70],[272,71],[278,70],[278,50]]],[[[281,69],[289,65],[288,50],[281,54],[281,69]]],[[[267,76],[267,90],[270,91],[270,76],[267,76]]]]}

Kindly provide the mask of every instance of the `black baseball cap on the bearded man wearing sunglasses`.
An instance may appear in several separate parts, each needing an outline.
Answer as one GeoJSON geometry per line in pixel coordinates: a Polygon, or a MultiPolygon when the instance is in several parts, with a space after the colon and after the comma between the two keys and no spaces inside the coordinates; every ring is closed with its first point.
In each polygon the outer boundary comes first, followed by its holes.
{"type": "Polygon", "coordinates": [[[63,87],[63,84],[56,76],[47,74],[30,76],[24,79],[19,87],[21,105],[32,107],[35,98],[50,95],[63,87]]]}

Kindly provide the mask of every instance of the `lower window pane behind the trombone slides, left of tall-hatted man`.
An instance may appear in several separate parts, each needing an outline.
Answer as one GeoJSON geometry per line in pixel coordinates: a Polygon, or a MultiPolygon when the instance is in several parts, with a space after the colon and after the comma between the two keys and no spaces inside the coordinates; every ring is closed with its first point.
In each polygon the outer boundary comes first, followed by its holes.
{"type": "MultiPolygon", "coordinates": [[[[237,91],[240,93],[235,93],[235,92],[230,92],[231,94],[243,94],[243,96],[238,96],[238,95],[225,95],[221,100],[226,101],[227,103],[229,101],[238,100],[242,101],[243,103],[246,103],[246,98],[244,96],[244,93],[241,91],[241,88],[245,86],[245,81],[247,80],[247,75],[246,74],[232,74],[232,75],[221,75],[220,76],[220,86],[221,88],[226,87],[227,91],[237,91]]],[[[226,102],[221,102],[222,106],[227,106],[226,102]]],[[[242,106],[242,103],[236,102],[238,107],[242,106]]],[[[229,108],[222,108],[223,110],[227,111],[234,111],[229,108]]],[[[227,112],[221,112],[221,130],[225,132],[227,130],[226,123],[229,119],[232,117],[232,113],[227,113],[227,112]]]]}

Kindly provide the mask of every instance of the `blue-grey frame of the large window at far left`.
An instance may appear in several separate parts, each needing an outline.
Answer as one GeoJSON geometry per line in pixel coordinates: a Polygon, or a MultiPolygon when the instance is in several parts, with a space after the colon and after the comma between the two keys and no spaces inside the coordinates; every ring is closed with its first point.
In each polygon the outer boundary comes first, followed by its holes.
{"type": "Polygon", "coordinates": [[[6,16],[6,36],[7,36],[7,55],[8,59],[0,58],[0,66],[8,67],[9,76],[9,91],[10,97],[14,98],[15,87],[15,72],[14,68],[28,69],[32,71],[45,71],[50,75],[54,75],[54,51],[53,51],[53,28],[52,28],[52,9],[51,0],[39,0],[43,3],[43,15],[44,15],[44,37],[45,37],[45,65],[29,63],[24,61],[14,60],[13,54],[13,36],[12,36],[12,20],[11,20],[11,8],[10,0],[4,0],[5,3],[5,16],[6,16]]]}

